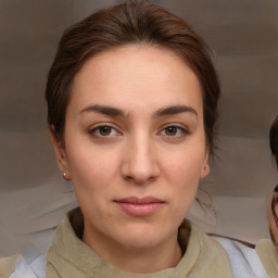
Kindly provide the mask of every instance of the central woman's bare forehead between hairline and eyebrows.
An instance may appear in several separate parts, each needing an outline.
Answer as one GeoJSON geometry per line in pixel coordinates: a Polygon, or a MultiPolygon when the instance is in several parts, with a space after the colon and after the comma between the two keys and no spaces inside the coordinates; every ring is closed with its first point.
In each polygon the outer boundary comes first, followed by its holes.
{"type": "Polygon", "coordinates": [[[201,94],[198,77],[174,51],[126,46],[85,63],[74,79],[70,106],[148,104],[154,109],[182,102],[202,110],[201,94]]]}

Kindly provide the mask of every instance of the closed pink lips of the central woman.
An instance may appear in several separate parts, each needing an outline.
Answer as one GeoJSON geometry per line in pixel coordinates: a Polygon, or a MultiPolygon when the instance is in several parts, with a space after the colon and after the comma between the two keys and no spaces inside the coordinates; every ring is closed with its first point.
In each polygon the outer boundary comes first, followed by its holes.
{"type": "Polygon", "coordinates": [[[154,197],[127,197],[116,200],[115,203],[125,213],[131,216],[150,216],[157,212],[165,202],[154,197]]]}

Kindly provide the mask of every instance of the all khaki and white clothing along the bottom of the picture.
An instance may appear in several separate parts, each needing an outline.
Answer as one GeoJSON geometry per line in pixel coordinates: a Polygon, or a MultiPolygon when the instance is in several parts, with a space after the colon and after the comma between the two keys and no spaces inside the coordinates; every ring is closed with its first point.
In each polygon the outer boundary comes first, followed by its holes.
{"type": "Polygon", "coordinates": [[[188,220],[185,220],[179,229],[178,240],[185,255],[175,268],[148,275],[125,273],[109,265],[86,245],[76,236],[76,232],[80,231],[80,223],[73,229],[68,217],[70,215],[65,216],[58,228],[46,261],[45,256],[40,256],[28,266],[23,257],[2,258],[0,278],[45,278],[45,275],[47,278],[278,277],[278,252],[269,240],[260,241],[256,250],[216,237],[218,243],[188,220]],[[190,232],[189,240],[187,240],[188,232],[190,232]],[[16,270],[13,273],[15,261],[16,270]],[[27,271],[29,271],[28,276],[26,276],[27,271]]]}

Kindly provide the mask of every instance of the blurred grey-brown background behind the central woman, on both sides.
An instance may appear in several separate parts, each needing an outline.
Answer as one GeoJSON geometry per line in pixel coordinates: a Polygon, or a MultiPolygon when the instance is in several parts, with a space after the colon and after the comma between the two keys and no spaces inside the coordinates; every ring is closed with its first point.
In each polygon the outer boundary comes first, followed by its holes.
{"type": "MultiPolygon", "coordinates": [[[[76,205],[47,130],[46,76],[65,27],[113,1],[0,0],[0,256],[45,252],[76,205]]],[[[278,113],[278,1],[153,1],[187,20],[212,48],[223,98],[217,157],[204,182],[206,230],[255,242],[268,237],[267,198],[278,180],[268,146],[278,113]]]]}

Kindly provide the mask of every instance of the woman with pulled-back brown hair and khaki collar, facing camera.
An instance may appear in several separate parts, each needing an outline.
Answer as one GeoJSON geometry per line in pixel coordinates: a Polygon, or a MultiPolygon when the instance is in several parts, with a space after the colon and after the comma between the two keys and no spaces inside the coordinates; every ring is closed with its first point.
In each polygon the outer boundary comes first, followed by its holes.
{"type": "Polygon", "coordinates": [[[185,220],[210,173],[219,93],[203,40],[156,5],[127,1],[68,28],[46,99],[80,208],[58,228],[46,269],[17,260],[18,275],[232,277],[222,245],[185,220]]]}

